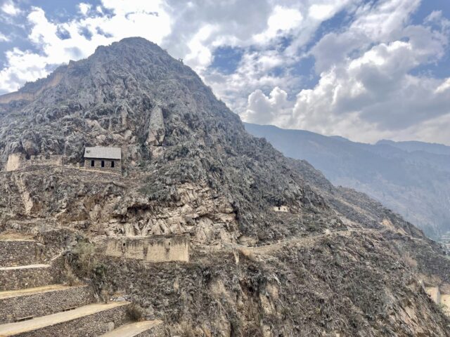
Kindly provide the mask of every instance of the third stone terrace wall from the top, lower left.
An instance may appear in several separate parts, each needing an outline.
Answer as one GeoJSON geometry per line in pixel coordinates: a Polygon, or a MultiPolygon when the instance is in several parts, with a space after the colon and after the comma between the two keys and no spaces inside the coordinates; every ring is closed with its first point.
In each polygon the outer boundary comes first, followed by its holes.
{"type": "Polygon", "coordinates": [[[0,324],[15,322],[16,319],[24,317],[51,315],[68,308],[88,305],[93,300],[91,286],[86,285],[23,296],[0,297],[0,324]]]}

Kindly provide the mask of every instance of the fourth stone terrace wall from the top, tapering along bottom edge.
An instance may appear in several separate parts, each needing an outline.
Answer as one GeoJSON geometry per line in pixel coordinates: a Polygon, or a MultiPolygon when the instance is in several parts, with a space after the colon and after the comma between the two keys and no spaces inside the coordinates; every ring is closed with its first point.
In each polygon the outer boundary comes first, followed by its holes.
{"type": "Polygon", "coordinates": [[[111,327],[117,327],[127,322],[127,305],[122,305],[110,310],[97,312],[94,315],[73,319],[70,322],[64,322],[43,329],[18,333],[16,337],[85,337],[101,336],[110,331],[111,327]],[[112,324],[113,323],[113,324],[112,324]]]}

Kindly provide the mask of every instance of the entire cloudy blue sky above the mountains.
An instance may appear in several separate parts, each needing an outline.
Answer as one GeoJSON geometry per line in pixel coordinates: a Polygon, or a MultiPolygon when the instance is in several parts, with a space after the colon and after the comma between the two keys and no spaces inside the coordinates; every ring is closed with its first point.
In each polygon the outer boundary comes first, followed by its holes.
{"type": "Polygon", "coordinates": [[[136,36],[243,121],[450,145],[450,0],[0,0],[0,94],[136,36]]]}

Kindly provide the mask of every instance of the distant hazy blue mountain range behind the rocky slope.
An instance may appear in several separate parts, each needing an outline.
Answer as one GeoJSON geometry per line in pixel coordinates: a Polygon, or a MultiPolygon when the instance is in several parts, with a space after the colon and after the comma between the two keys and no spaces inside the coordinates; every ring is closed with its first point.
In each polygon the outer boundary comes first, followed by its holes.
{"type": "Polygon", "coordinates": [[[416,141],[354,143],[339,136],[245,124],[288,157],[305,159],[335,185],[378,199],[428,236],[450,231],[450,147],[416,141]]]}

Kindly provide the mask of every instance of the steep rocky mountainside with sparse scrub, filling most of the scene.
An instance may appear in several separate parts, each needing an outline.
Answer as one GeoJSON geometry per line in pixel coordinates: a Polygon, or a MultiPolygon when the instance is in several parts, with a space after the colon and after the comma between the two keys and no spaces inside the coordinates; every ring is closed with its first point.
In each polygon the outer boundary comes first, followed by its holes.
{"type": "Polygon", "coordinates": [[[60,232],[60,248],[99,235],[190,234],[191,263],[98,257],[82,275],[165,319],[167,336],[450,336],[418,285],[450,282],[439,246],[248,135],[155,44],[99,47],[8,97],[3,167],[13,153],[76,164],[86,146],[120,146],[124,176],[2,171],[0,229],[60,232]]]}

